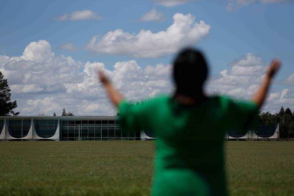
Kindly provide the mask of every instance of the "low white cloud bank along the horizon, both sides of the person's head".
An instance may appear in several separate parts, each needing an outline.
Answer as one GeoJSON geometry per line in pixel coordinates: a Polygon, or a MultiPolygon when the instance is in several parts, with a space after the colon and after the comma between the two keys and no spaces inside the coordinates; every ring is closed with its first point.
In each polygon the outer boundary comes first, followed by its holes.
{"type": "MultiPolygon", "coordinates": [[[[48,42],[38,47],[40,51],[47,51],[40,53],[44,56],[38,58],[42,59],[39,62],[33,61],[36,57],[32,58],[30,55],[29,60],[22,56],[0,56],[0,71],[8,80],[11,100],[17,100],[16,110],[23,112],[23,115],[38,115],[43,111],[46,115],[53,115],[54,112],[61,115],[62,108],[75,115],[116,115],[116,109],[97,80],[98,68],[104,71],[114,86],[131,102],[148,100],[158,94],[174,91],[170,64],[158,63],[143,68],[135,60],[130,60],[116,62],[108,69],[103,62],[81,63],[70,56],[55,56],[48,50],[51,48],[48,42]]],[[[31,43],[27,48],[31,48],[31,43]]],[[[258,88],[266,69],[259,57],[250,55],[250,58],[241,57],[239,63],[231,63],[228,69],[211,76],[206,83],[206,91],[209,94],[250,98],[258,88]]],[[[271,92],[262,110],[279,110],[282,105],[293,110],[294,93],[291,89],[287,87],[271,92]]]]}

